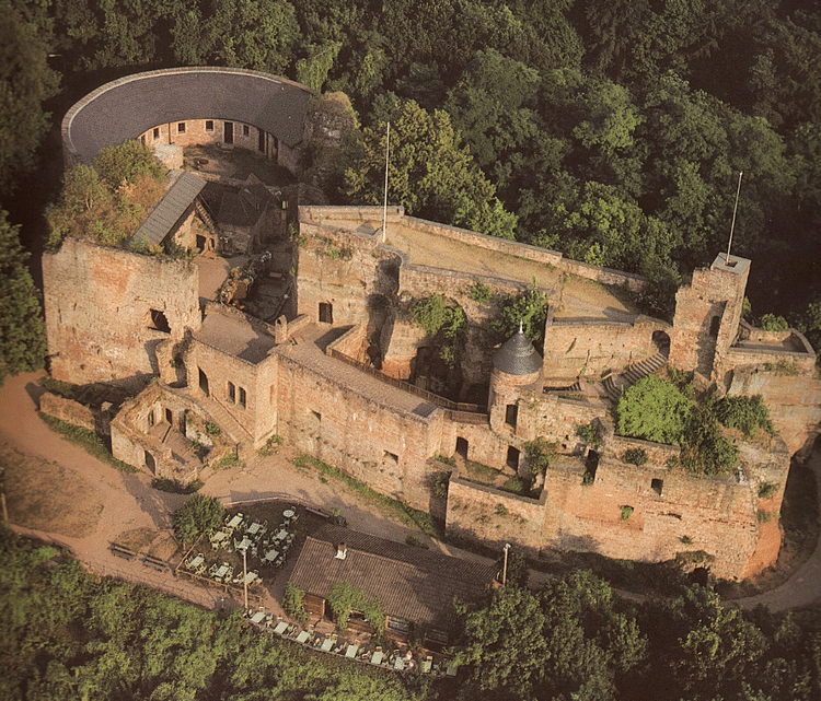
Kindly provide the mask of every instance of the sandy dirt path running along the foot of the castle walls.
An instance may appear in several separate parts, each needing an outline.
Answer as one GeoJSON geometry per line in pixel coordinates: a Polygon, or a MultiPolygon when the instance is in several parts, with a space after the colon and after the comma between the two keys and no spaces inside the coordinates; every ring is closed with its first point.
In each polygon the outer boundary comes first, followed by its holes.
{"type": "MultiPolygon", "coordinates": [[[[0,387],[0,443],[11,449],[48,462],[60,469],[59,475],[71,481],[77,499],[93,500],[96,513],[92,527],[83,524],[80,535],[76,524],[60,518],[58,514],[49,521],[37,513],[34,522],[26,525],[25,515],[14,518],[15,504],[9,504],[13,527],[22,535],[39,538],[46,542],[68,548],[94,572],[116,576],[129,582],[161,588],[170,594],[188,599],[207,608],[222,606],[219,589],[205,588],[176,579],[170,572],[161,573],[147,568],[138,560],[127,561],[115,557],[109,546],[118,539],[127,539],[135,531],[171,531],[171,515],[188,496],[169,494],[151,488],[151,477],[143,472],[126,474],[91,457],[54,433],[37,416],[37,400],[43,388],[37,384],[44,373],[28,373],[8,377],[0,387]],[[102,507],[101,507],[102,505],[102,507]]],[[[34,464],[35,462],[32,462],[34,464]]],[[[58,472],[55,472],[57,475],[58,472]]],[[[44,491],[54,484],[44,480],[44,491]]],[[[59,489],[59,486],[57,486],[59,489]]],[[[402,526],[386,518],[379,510],[361,502],[361,499],[338,483],[324,483],[316,475],[296,468],[287,452],[258,460],[243,470],[224,470],[213,475],[201,490],[231,504],[252,500],[275,498],[299,499],[326,510],[339,509],[351,528],[404,542],[409,534],[428,540],[433,547],[449,554],[478,558],[438,544],[418,530],[402,526]]],[[[481,559],[481,558],[478,558],[481,559]]],[[[270,597],[265,600],[269,611],[281,615],[279,605],[270,597]]]]}

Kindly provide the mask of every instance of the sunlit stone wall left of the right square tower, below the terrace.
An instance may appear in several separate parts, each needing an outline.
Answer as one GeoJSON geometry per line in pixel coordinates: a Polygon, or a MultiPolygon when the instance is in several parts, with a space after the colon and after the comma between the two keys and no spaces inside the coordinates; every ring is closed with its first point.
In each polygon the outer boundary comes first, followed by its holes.
{"type": "Polygon", "coordinates": [[[544,340],[544,377],[550,383],[577,377],[597,381],[606,371],[621,371],[658,352],[655,331],[671,332],[669,324],[639,316],[634,324],[585,319],[553,320],[547,317],[544,340]]]}

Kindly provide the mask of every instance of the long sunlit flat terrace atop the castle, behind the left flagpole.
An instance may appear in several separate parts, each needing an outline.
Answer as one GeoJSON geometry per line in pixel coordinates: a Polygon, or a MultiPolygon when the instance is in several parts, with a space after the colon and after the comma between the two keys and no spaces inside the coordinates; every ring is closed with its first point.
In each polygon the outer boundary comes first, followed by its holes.
{"type": "MultiPolygon", "coordinates": [[[[322,219],[329,226],[350,230],[350,220],[322,219]]],[[[382,221],[367,221],[356,231],[373,234],[382,221]]],[[[389,222],[388,244],[406,253],[419,266],[455,270],[477,276],[505,278],[530,284],[533,279],[548,291],[551,303],[557,306],[554,318],[595,318],[633,322],[638,315],[635,304],[621,290],[608,288],[592,280],[563,273],[551,266],[517,258],[496,250],[437,236],[407,226],[404,222],[389,222]]]]}

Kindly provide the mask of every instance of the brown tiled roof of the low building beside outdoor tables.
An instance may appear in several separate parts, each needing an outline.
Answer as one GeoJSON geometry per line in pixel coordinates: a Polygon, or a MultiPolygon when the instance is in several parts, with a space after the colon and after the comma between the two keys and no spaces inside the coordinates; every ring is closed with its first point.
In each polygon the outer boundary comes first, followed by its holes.
{"type": "Polygon", "coordinates": [[[337,582],[348,582],[370,599],[381,599],[389,616],[448,630],[453,598],[478,600],[495,574],[493,564],[326,525],[305,540],[291,582],[323,598],[337,582]],[[345,560],[334,557],[340,542],[347,546],[345,560]]]}

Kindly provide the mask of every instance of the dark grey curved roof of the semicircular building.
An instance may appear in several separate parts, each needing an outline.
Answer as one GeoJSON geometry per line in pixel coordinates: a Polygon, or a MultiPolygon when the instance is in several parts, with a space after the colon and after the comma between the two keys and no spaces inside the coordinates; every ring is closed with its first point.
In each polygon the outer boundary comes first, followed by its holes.
{"type": "Polygon", "coordinates": [[[106,83],[83,97],[63,118],[62,136],[68,150],[85,163],[103,147],[186,119],[253,125],[294,147],[302,141],[305,106],[315,94],[284,78],[238,68],[148,71],[106,83]]]}

